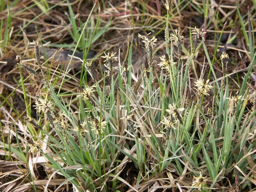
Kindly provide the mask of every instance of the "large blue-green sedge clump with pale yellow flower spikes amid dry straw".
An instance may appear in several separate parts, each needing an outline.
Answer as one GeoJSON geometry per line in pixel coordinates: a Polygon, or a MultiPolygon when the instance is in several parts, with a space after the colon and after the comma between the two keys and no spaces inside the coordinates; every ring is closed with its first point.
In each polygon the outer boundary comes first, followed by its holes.
{"type": "MultiPolygon", "coordinates": [[[[179,5],[184,4],[179,2],[179,5]]],[[[199,4],[193,6],[200,9],[199,4]]],[[[227,45],[221,54],[218,50],[227,23],[219,31],[220,38],[210,53],[208,30],[189,28],[189,34],[181,35],[182,31],[173,29],[169,23],[179,6],[166,1],[165,7],[167,20],[161,26],[165,28],[165,37],[134,34],[123,51],[127,53],[125,57],[119,47],[118,53],[105,48],[101,56],[105,71],[103,64],[100,69],[95,68],[94,59],[86,61],[101,10],[93,34],[90,36],[88,32],[91,41],[87,44],[81,40],[88,20],[83,26],[78,15],[81,27],[76,27],[69,2],[73,31],[68,31],[75,48],[66,71],[57,67],[52,72],[52,63],[41,61],[38,42],[32,43],[36,67],[28,67],[22,57],[16,57],[20,82],[15,90],[22,86],[25,110],[21,114],[16,112],[16,120],[7,132],[1,122],[0,144],[2,163],[18,162],[14,170],[19,170],[20,177],[26,179],[25,183],[15,181],[10,188],[16,191],[255,189],[256,94],[250,85],[255,76],[255,55],[248,54],[251,60],[245,69],[229,73],[233,61],[227,45]],[[184,41],[188,40],[186,46],[184,41]],[[138,73],[133,69],[134,52],[139,49],[134,44],[144,45],[140,56],[142,70],[138,73]],[[84,51],[83,68],[79,78],[77,74],[73,76],[76,86],[67,89],[66,83],[72,82],[69,67],[77,48],[84,51]],[[29,73],[26,78],[24,70],[29,73]],[[238,73],[241,77],[232,76],[238,73]],[[41,84],[38,96],[29,95],[27,90],[27,82],[34,78],[37,79],[34,82],[41,84]],[[4,137],[6,133],[8,137],[4,137]]],[[[204,2],[201,11],[205,16],[206,7],[204,2]]],[[[132,14],[133,31],[135,17],[132,14]]],[[[241,26],[244,28],[244,24],[241,26]]],[[[14,108],[8,101],[12,94],[8,97],[1,94],[1,106],[7,103],[14,108]]]]}

